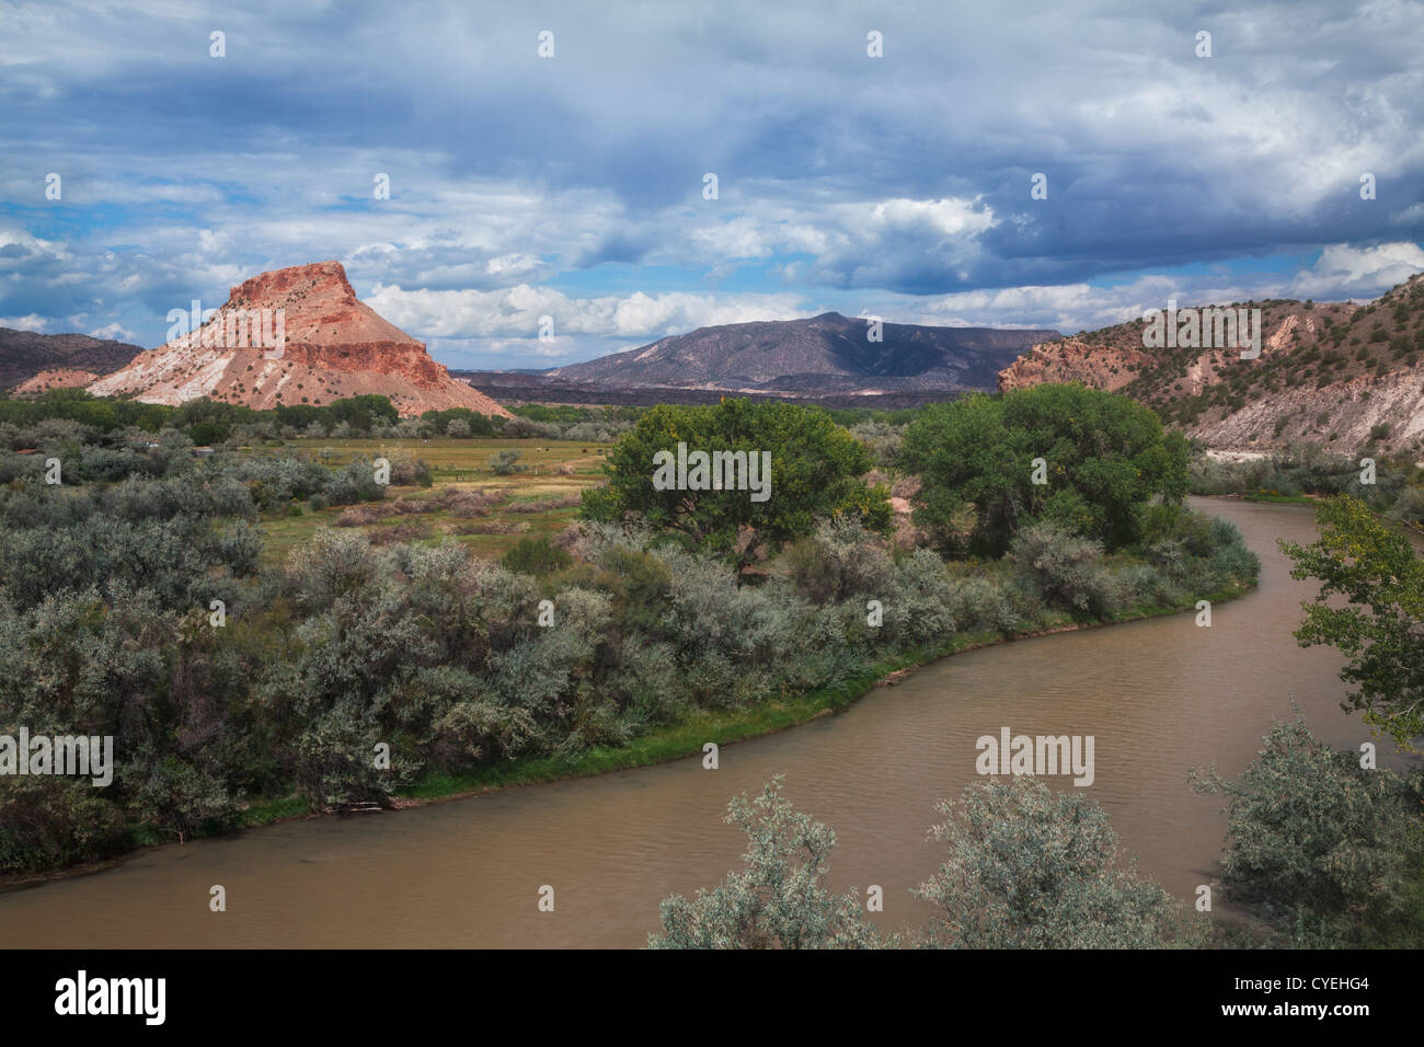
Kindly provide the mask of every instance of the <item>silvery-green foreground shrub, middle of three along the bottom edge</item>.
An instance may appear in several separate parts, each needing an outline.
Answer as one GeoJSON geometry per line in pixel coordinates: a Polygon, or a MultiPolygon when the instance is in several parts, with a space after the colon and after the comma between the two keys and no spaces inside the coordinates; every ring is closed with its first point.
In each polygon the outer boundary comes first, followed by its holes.
{"type": "Polygon", "coordinates": [[[1190,944],[1179,905],[1118,852],[1108,815],[1034,778],[971,785],[947,821],[938,872],[916,889],[934,906],[924,944],[953,949],[1161,949],[1190,944]]]}

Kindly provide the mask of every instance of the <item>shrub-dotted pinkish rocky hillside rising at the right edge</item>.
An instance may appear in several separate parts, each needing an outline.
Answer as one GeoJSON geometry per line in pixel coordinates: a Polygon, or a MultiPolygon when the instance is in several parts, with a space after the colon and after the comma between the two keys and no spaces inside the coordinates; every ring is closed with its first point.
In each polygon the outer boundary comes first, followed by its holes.
{"type": "Polygon", "coordinates": [[[1424,450],[1424,274],[1368,305],[1236,302],[1260,308],[1262,352],[1145,348],[1141,319],[1035,345],[1002,390],[1084,382],[1125,393],[1215,447],[1293,442],[1353,452],[1424,450]]]}

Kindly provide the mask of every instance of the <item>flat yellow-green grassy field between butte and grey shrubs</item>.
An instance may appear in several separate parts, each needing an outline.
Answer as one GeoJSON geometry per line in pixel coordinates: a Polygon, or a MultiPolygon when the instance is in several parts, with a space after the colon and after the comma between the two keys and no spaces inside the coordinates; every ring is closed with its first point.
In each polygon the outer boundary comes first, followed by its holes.
{"type": "MultiPolygon", "coordinates": [[[[507,491],[507,497],[488,507],[487,514],[461,517],[446,509],[427,513],[396,513],[379,520],[356,524],[373,540],[440,541],[453,537],[467,544],[477,556],[497,558],[511,548],[521,537],[561,531],[578,513],[577,506],[548,507],[537,511],[520,511],[540,503],[568,501],[584,489],[602,479],[604,453],[612,444],[572,440],[513,440],[513,439],[431,439],[431,440],[322,440],[295,439],[282,446],[245,449],[246,454],[298,454],[310,457],[333,469],[345,466],[353,456],[394,457],[410,454],[430,466],[433,487],[390,487],[386,503],[377,503],[375,511],[393,510],[393,503],[422,503],[426,499],[439,500],[454,490],[507,491]],[[520,452],[518,464],[527,466],[508,476],[496,476],[490,457],[497,452],[511,449],[520,452]],[[383,533],[390,531],[390,533],[383,533]],[[470,533],[484,531],[484,533],[470,533]]],[[[436,504],[434,501],[430,504],[436,504]]],[[[407,504],[407,507],[410,507],[407,504]]],[[[265,513],[262,517],[263,558],[279,564],[292,546],[306,541],[318,527],[336,527],[350,506],[312,510],[305,504],[293,504],[288,510],[265,513]]],[[[355,507],[347,514],[370,516],[366,507],[355,507]]]]}

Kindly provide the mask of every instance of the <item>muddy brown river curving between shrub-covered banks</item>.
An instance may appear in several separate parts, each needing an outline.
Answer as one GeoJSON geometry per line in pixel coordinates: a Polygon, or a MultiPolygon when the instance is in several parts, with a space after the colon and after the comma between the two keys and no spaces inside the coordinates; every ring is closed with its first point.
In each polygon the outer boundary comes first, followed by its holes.
{"type": "MultiPolygon", "coordinates": [[[[1368,741],[1339,702],[1339,655],[1297,647],[1312,583],[1289,575],[1276,538],[1310,541],[1292,506],[1193,500],[1233,520],[1262,557],[1257,590],[1193,614],[1065,632],[946,658],[850,709],[728,745],[721,768],[682,759],[402,812],[290,822],[134,855],[87,876],[0,895],[9,947],[629,947],[658,902],[722,880],[743,838],[722,822],[738,792],[773,773],[839,846],[829,885],[884,890],[886,929],[920,923],[910,896],[938,863],[927,839],[938,798],[978,781],[974,742],[1014,734],[1094,735],[1087,795],[1141,869],[1178,897],[1212,879],[1226,819],[1188,768],[1239,773],[1294,698],[1317,736],[1368,741]],[[209,910],[222,885],[226,912],[209,910]],[[554,910],[538,907],[554,889],[554,910]]],[[[1378,741],[1380,762],[1404,756],[1378,741]]],[[[1075,788],[1065,778],[1055,788],[1075,788]]]]}

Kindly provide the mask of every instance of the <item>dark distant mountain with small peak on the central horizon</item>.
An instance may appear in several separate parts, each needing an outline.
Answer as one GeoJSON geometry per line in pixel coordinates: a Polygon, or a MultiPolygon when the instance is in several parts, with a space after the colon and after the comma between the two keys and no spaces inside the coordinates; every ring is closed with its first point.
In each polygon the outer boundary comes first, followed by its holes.
{"type": "Polygon", "coordinates": [[[836,312],[800,321],[725,323],[674,335],[545,377],[608,387],[740,393],[956,392],[993,389],[998,372],[1057,330],[881,325],[836,312]]]}

